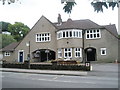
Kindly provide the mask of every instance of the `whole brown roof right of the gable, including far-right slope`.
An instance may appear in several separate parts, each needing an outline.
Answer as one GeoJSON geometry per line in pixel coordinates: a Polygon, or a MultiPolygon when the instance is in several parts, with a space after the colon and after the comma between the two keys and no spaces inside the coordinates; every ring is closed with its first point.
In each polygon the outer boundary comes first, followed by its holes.
{"type": "Polygon", "coordinates": [[[89,20],[89,19],[84,19],[84,20],[72,20],[68,19],[66,22],[62,22],[61,25],[58,25],[58,23],[54,23],[54,25],[58,28],[59,30],[65,30],[65,29],[100,29],[100,28],[105,28],[107,31],[109,31],[111,34],[113,34],[115,37],[118,38],[118,33],[115,24],[112,25],[98,25],[95,22],[89,20]]]}

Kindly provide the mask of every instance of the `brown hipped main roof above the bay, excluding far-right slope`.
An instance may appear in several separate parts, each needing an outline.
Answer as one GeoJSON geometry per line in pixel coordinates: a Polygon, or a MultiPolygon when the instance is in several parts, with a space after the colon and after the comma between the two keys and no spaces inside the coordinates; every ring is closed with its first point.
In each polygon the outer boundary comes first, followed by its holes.
{"type": "Polygon", "coordinates": [[[102,26],[94,23],[93,21],[89,19],[85,20],[72,20],[68,19],[66,22],[63,22],[62,25],[58,25],[55,23],[58,30],[61,29],[93,29],[93,28],[103,28],[102,26]]]}

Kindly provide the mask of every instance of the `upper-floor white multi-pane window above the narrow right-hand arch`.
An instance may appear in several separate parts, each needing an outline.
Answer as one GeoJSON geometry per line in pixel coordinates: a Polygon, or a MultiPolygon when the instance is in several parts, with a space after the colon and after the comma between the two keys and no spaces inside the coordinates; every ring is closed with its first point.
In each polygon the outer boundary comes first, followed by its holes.
{"type": "Polygon", "coordinates": [[[86,30],[86,39],[97,39],[101,38],[100,29],[86,30]]]}

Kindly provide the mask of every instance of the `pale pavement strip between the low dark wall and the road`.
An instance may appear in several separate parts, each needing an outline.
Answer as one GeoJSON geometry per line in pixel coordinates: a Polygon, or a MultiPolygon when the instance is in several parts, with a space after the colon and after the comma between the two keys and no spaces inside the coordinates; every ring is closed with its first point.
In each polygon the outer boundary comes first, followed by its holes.
{"type": "Polygon", "coordinates": [[[34,69],[16,69],[16,68],[0,68],[4,72],[18,73],[34,73],[34,74],[52,74],[52,75],[70,75],[70,76],[85,76],[86,71],[66,71],[66,70],[34,70],[34,69]]]}

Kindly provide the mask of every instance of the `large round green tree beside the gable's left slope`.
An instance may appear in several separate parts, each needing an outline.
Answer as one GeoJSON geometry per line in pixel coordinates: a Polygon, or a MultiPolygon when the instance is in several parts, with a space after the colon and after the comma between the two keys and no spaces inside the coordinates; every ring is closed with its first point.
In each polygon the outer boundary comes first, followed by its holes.
{"type": "Polygon", "coordinates": [[[22,40],[29,30],[30,28],[21,22],[15,22],[15,24],[8,25],[8,31],[17,41],[22,40]]]}

